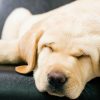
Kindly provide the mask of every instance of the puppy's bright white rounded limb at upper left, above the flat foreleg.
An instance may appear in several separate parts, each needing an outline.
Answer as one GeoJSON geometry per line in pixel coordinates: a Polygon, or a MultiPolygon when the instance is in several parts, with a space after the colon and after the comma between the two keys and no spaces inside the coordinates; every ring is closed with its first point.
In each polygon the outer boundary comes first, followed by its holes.
{"type": "Polygon", "coordinates": [[[19,29],[24,21],[32,14],[25,8],[15,9],[7,18],[1,38],[3,40],[14,40],[18,38],[19,29]]]}

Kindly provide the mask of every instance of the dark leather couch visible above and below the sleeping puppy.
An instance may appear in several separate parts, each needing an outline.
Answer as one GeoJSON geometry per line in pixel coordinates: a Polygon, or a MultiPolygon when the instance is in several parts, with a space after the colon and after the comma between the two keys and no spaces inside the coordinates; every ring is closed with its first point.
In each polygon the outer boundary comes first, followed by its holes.
{"type": "MultiPolygon", "coordinates": [[[[9,13],[17,7],[25,7],[33,14],[47,12],[74,0],[0,0],[0,33],[9,13]]],[[[12,65],[0,65],[0,100],[68,100],[37,91],[32,73],[20,75],[12,65]]],[[[100,78],[86,85],[77,100],[100,100],[100,78]]]]}

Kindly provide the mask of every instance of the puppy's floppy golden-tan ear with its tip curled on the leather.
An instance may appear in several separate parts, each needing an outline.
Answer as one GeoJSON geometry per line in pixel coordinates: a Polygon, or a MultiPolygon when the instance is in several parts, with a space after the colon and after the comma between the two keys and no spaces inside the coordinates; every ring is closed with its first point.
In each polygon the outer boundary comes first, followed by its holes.
{"type": "Polygon", "coordinates": [[[42,34],[43,32],[39,31],[23,37],[24,39],[20,43],[20,55],[28,65],[16,67],[15,70],[18,73],[26,74],[33,71],[36,66],[37,45],[42,34]]]}

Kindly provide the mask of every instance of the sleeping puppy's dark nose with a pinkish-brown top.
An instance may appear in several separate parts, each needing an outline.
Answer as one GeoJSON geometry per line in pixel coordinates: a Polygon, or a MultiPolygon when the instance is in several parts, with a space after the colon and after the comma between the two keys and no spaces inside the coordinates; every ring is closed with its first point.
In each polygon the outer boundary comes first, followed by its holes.
{"type": "Polygon", "coordinates": [[[48,74],[48,83],[54,88],[61,88],[66,80],[67,78],[61,72],[50,72],[48,74]]]}

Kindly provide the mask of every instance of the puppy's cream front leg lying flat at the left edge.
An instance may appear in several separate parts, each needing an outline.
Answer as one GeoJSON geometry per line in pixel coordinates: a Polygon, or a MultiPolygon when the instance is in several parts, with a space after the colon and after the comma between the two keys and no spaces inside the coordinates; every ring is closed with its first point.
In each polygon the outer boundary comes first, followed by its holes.
{"type": "Polygon", "coordinates": [[[18,41],[0,40],[0,64],[17,64],[21,61],[18,41]]]}

